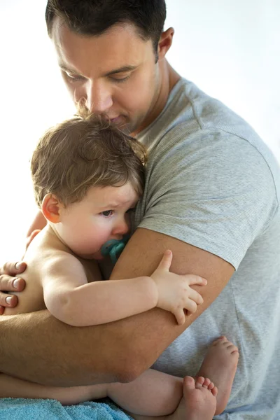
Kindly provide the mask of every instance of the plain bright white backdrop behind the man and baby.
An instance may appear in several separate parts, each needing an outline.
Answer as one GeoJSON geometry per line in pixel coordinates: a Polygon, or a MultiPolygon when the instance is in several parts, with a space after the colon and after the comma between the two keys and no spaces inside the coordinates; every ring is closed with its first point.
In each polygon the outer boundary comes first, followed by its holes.
{"type": "MultiPolygon", "coordinates": [[[[0,1],[0,264],[20,258],[36,214],[29,178],[36,141],[73,113],[45,4],[0,1]]],[[[279,22],[279,0],[167,0],[166,28],[175,28],[169,62],[248,120],[280,160],[279,22]]]]}

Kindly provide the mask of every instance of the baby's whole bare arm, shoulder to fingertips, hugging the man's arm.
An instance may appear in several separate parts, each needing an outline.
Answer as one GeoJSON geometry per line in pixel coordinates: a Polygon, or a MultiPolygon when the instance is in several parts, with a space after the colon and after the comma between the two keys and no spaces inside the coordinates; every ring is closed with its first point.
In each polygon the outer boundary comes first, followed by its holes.
{"type": "Polygon", "coordinates": [[[161,307],[184,323],[183,309],[191,313],[202,297],[190,285],[205,285],[200,276],[169,272],[172,252],[166,251],[151,276],[87,283],[80,261],[68,253],[51,258],[42,271],[45,305],[60,321],[73,326],[109,323],[161,307]]]}

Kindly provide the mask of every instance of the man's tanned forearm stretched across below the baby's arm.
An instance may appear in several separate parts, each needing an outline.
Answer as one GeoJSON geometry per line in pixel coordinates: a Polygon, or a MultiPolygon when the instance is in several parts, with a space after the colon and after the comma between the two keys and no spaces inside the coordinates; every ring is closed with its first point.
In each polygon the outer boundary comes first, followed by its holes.
{"type": "Polygon", "coordinates": [[[0,372],[50,386],[133,380],[182,331],[174,316],[161,309],[137,317],[137,328],[136,316],[76,328],[48,311],[4,316],[0,318],[0,372]]]}

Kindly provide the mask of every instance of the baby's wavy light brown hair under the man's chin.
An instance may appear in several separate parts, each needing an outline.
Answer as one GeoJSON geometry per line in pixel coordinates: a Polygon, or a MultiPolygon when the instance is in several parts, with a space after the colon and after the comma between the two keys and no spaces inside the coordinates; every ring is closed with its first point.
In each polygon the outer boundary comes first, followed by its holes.
{"type": "Polygon", "coordinates": [[[31,158],[36,203],[51,193],[64,204],[79,202],[92,186],[132,183],[144,190],[146,150],[102,117],[75,116],[51,127],[31,158]]]}

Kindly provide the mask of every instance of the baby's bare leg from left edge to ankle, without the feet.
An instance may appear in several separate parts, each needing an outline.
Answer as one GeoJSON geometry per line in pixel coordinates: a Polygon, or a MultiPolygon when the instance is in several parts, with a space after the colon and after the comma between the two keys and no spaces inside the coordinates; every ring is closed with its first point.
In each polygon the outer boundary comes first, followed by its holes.
{"type": "Polygon", "coordinates": [[[44,386],[0,374],[0,398],[50,398],[62,405],[109,396],[120,407],[137,414],[160,416],[174,412],[183,395],[183,379],[147,370],[128,384],[101,384],[69,388],[44,386]]]}

